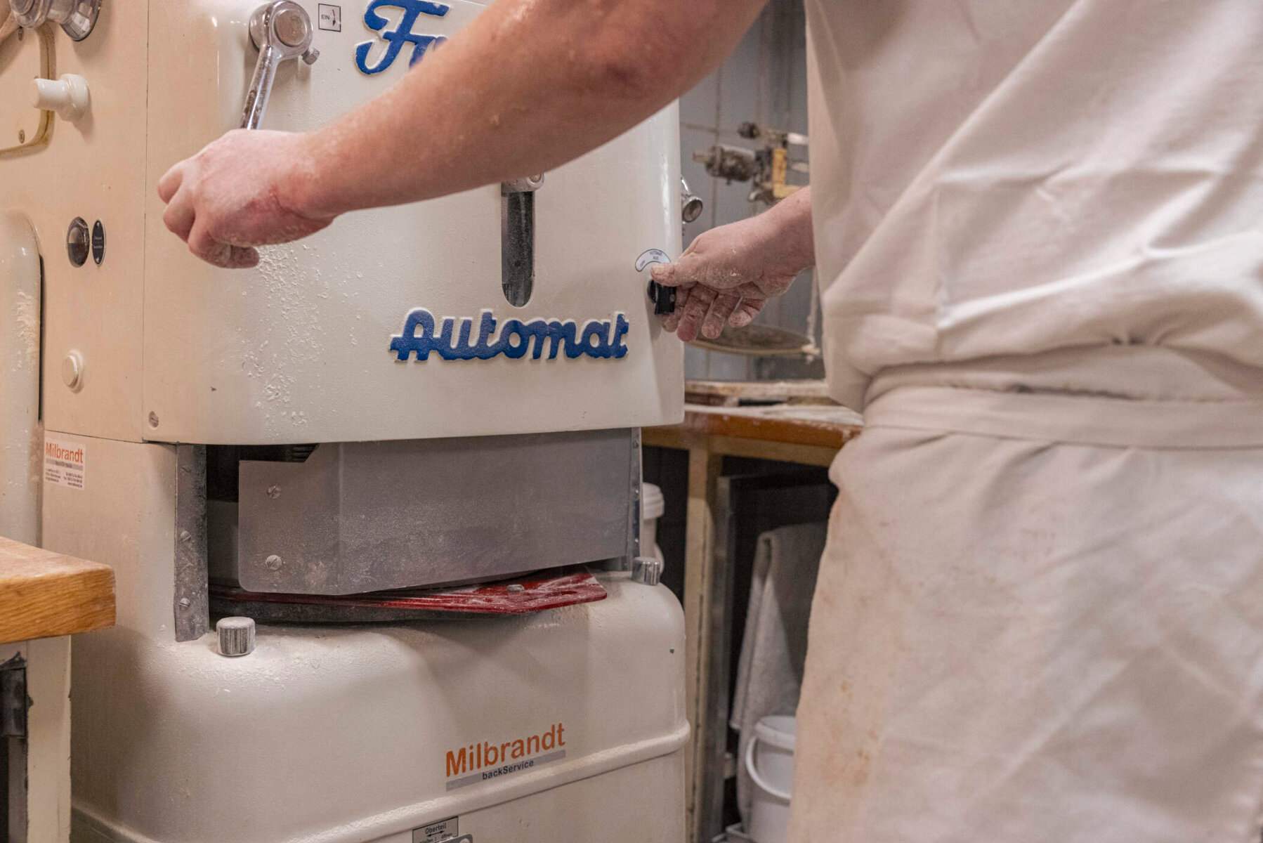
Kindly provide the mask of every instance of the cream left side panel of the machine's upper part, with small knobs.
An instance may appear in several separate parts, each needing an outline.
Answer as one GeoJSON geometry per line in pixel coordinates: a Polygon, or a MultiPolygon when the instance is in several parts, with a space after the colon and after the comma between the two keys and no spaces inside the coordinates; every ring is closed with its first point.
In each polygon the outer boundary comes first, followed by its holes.
{"type": "Polygon", "coordinates": [[[57,28],[53,76],[83,76],[91,110],[77,124],[53,118],[47,147],[0,158],[0,206],[32,219],[44,259],[43,399],[54,430],[140,439],[141,233],[153,192],[140,178],[147,30],[148,4],[135,0],[104,4],[87,40],[75,43],[57,28]],[[76,216],[105,225],[100,267],[88,259],[75,268],[67,259],[66,231],[76,216]],[[85,364],[78,392],[61,375],[72,350],[85,364]]]}

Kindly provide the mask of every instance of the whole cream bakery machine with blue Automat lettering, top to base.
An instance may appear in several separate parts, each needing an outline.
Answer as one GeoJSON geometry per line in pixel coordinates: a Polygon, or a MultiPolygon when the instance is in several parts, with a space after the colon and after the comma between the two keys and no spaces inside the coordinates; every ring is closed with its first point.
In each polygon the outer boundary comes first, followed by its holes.
{"type": "Polygon", "coordinates": [[[222,270],[159,176],[426,72],[482,5],[3,1],[4,331],[40,365],[0,379],[0,469],[117,583],[75,641],[71,838],[678,843],[682,613],[634,561],[638,430],[682,416],[644,272],[674,107],[222,270]]]}

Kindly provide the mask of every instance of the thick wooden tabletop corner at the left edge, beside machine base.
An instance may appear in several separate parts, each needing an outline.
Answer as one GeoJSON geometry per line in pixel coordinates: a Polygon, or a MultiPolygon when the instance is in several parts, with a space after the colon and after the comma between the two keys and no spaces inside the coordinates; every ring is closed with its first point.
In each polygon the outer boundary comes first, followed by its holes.
{"type": "Polygon", "coordinates": [[[0,538],[0,643],[114,626],[107,565],[0,538]]]}

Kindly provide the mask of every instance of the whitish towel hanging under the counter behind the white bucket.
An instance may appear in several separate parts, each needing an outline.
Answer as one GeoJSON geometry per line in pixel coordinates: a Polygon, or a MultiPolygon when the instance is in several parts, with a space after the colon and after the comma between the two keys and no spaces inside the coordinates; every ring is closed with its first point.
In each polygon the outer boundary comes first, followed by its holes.
{"type": "MultiPolygon", "coordinates": [[[[825,522],[811,522],[759,536],[729,718],[729,725],[740,734],[738,758],[745,758],[759,720],[769,714],[792,715],[798,708],[807,660],[807,618],[827,532],[825,522]]],[[[753,800],[754,782],[745,765],[739,763],[736,806],[746,825],[753,800]]]]}

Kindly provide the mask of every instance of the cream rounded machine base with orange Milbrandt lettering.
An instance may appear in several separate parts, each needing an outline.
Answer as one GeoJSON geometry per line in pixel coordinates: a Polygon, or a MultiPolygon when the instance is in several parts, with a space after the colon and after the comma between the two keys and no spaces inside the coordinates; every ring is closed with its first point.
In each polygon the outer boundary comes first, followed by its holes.
{"type": "Polygon", "coordinates": [[[128,628],[75,645],[72,840],[681,843],[683,618],[664,588],[407,626],[128,628]]]}

